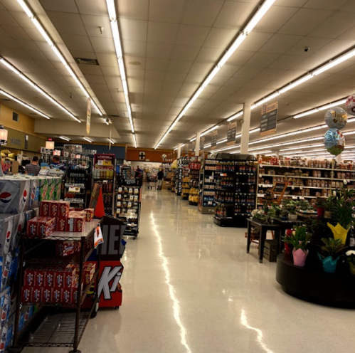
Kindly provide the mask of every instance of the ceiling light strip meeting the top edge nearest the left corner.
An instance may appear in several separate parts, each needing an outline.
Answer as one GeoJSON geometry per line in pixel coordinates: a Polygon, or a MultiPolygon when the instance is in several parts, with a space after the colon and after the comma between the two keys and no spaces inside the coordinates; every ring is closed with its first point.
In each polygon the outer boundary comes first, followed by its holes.
{"type": "Polygon", "coordinates": [[[72,68],[70,67],[70,65],[66,62],[64,56],[62,55],[62,53],[60,53],[59,49],[55,46],[55,44],[53,43],[53,41],[51,40],[51,38],[48,36],[48,33],[46,32],[46,30],[43,28],[43,26],[41,25],[41,23],[38,21],[38,19],[36,19],[35,15],[33,14],[33,12],[31,11],[31,9],[28,7],[28,5],[26,4],[25,1],[23,0],[17,0],[18,4],[20,4],[20,6],[22,7],[23,11],[26,12],[27,16],[31,19],[31,21],[33,22],[33,24],[36,26],[37,30],[39,33],[41,33],[41,35],[43,36],[43,38],[45,39],[45,41],[48,43],[48,45],[52,48],[53,52],[55,53],[55,55],[58,57],[58,59],[60,60],[60,62],[64,65],[64,67],[67,69],[68,73],[70,74],[70,76],[73,77],[73,79],[75,80],[75,82],[77,83],[77,85],[80,87],[80,89],[83,91],[83,93],[85,94],[85,96],[87,98],[90,98],[91,100],[91,104],[93,105],[93,107],[95,107],[95,110],[99,113],[99,115],[102,117],[102,112],[99,109],[99,107],[97,107],[96,103],[94,102],[94,100],[90,97],[88,91],[84,88],[83,83],[81,83],[81,81],[79,80],[78,76],[75,75],[75,73],[73,72],[72,68]]]}

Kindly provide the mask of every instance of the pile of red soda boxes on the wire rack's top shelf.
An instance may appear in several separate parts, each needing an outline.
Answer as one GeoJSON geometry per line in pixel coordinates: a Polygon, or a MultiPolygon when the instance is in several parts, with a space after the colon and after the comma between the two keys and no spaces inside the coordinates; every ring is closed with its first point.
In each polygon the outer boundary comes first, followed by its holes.
{"type": "Polygon", "coordinates": [[[69,201],[41,201],[39,214],[27,224],[28,238],[45,238],[53,231],[81,232],[85,221],[92,221],[94,210],[70,211],[69,201]]]}

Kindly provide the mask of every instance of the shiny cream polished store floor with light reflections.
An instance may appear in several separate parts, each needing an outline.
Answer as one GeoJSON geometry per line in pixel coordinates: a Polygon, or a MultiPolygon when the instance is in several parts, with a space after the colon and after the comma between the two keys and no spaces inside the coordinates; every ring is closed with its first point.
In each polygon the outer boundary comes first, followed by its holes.
{"type": "MultiPolygon", "coordinates": [[[[275,263],[245,253],[245,229],[170,191],[144,190],[137,240],[122,258],[123,305],[90,320],[83,353],[354,352],[355,312],[282,292],[275,263]]],[[[25,353],[68,349],[25,349],[25,353]]]]}

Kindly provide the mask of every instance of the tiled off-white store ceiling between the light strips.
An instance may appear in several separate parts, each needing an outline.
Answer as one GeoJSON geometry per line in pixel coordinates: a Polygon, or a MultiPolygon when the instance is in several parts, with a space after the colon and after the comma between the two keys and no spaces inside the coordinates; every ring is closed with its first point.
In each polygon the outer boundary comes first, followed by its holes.
{"type": "MultiPolygon", "coordinates": [[[[132,145],[106,1],[29,0],[27,3],[106,113],[105,117],[110,117],[114,135],[120,136],[115,142],[132,145]],[[100,26],[104,27],[103,33],[100,26]],[[77,65],[74,58],[78,57],[97,59],[99,65],[77,65]]],[[[157,144],[260,3],[258,0],[117,0],[139,147],[157,144]]],[[[194,133],[203,132],[239,111],[243,102],[260,100],[355,46],[354,3],[354,0],[276,0],[159,147],[173,148],[188,141],[194,133]],[[310,48],[307,53],[305,46],[310,48]]],[[[85,120],[85,95],[16,0],[0,0],[0,55],[85,120]]],[[[344,98],[354,93],[354,86],[355,58],[280,95],[277,133],[322,124],[324,112],[298,120],[286,118],[344,98]]],[[[4,66],[0,66],[0,88],[53,120],[70,121],[72,125],[68,115],[4,66]]],[[[43,120],[17,103],[6,102],[6,105],[43,120]]],[[[92,119],[95,124],[104,124],[94,110],[92,119]]],[[[256,109],[250,127],[258,127],[259,120],[260,110],[256,109]]],[[[354,123],[349,128],[351,124],[354,123]]],[[[47,125],[44,133],[54,137],[51,121],[47,125]]],[[[225,138],[226,124],[218,130],[220,139],[225,138]]],[[[323,130],[318,130],[307,136],[322,133],[323,130]]],[[[68,135],[75,137],[73,132],[68,135]]],[[[104,139],[95,136],[95,131],[90,132],[90,138],[95,141],[95,137],[97,141],[104,139]]],[[[251,140],[258,138],[258,133],[250,135],[251,140]]],[[[206,143],[208,140],[206,135],[206,143]]]]}

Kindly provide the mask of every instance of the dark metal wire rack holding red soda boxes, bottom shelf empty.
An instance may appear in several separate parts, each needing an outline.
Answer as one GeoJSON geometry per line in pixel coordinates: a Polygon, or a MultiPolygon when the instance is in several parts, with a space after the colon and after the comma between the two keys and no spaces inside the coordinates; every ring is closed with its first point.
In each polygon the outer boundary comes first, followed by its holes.
{"type": "MultiPolygon", "coordinates": [[[[21,251],[19,254],[18,268],[18,285],[15,322],[20,319],[21,305],[27,305],[27,302],[21,302],[21,288],[24,278],[24,266],[34,260],[35,263],[48,263],[49,258],[42,258],[43,253],[48,253],[53,249],[53,241],[80,241],[80,253],[75,257],[65,259],[58,258],[57,264],[68,263],[73,261],[79,266],[77,301],[71,305],[70,309],[67,305],[48,305],[48,303],[36,302],[41,310],[37,310],[36,314],[21,331],[18,331],[18,325],[15,325],[13,349],[21,349],[23,347],[73,347],[70,352],[80,352],[78,344],[83,337],[85,327],[90,317],[95,317],[98,309],[99,298],[97,296],[97,288],[93,295],[90,295],[90,306],[83,309],[81,304],[88,295],[90,283],[98,283],[99,271],[95,271],[93,280],[83,288],[83,268],[85,260],[94,250],[95,228],[100,221],[95,220],[85,223],[82,232],[61,232],[55,231],[46,238],[26,238],[26,234],[21,236],[21,251]],[[38,244],[39,242],[39,244],[38,244]],[[29,246],[28,246],[29,244],[29,246]],[[46,250],[47,249],[47,250],[46,250]],[[39,255],[39,256],[38,256],[39,255]],[[73,259],[76,259],[75,261],[73,259]]],[[[100,268],[101,245],[97,249],[97,269],[100,268]]],[[[51,258],[54,264],[55,256],[51,258]]],[[[89,299],[89,297],[87,297],[89,299]]]]}

